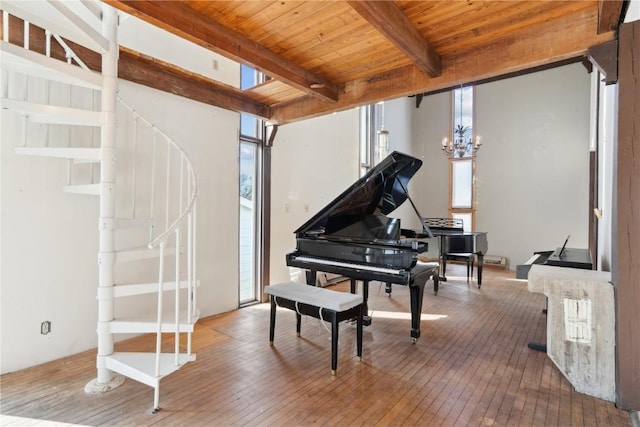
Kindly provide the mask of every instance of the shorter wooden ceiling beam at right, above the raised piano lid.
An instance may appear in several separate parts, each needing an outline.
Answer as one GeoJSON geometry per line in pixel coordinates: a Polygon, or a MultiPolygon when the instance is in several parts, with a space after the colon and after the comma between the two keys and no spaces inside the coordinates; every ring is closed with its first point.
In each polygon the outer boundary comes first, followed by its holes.
{"type": "Polygon", "coordinates": [[[392,1],[348,1],[349,5],[429,77],[442,74],[440,55],[392,1]]]}

